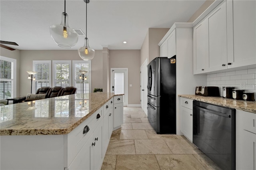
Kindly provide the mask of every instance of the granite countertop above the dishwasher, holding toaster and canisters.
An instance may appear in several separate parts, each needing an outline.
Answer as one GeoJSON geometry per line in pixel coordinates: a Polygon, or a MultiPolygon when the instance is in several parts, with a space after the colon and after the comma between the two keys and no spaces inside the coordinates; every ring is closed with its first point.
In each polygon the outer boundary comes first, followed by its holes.
{"type": "Polygon", "coordinates": [[[256,101],[225,99],[223,97],[204,97],[199,95],[178,95],[178,96],[184,97],[187,99],[196,100],[196,101],[211,103],[214,105],[220,105],[224,107],[230,107],[233,109],[256,113],[256,101]]]}

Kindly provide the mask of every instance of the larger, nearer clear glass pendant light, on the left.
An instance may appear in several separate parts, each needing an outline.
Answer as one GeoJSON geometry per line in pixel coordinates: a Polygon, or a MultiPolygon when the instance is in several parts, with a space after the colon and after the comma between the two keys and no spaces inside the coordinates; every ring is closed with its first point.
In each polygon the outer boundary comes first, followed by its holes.
{"type": "Polygon", "coordinates": [[[66,0],[64,0],[64,12],[60,25],[50,26],[50,34],[56,44],[62,48],[71,48],[78,41],[78,34],[68,26],[68,14],[66,13],[66,0]]]}

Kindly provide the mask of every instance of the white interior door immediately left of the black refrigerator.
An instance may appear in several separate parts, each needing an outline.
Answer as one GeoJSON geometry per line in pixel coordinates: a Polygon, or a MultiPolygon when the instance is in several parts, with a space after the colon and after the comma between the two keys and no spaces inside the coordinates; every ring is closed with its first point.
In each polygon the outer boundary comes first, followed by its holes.
{"type": "Polygon", "coordinates": [[[148,103],[148,59],[144,61],[142,66],[140,67],[140,106],[143,111],[148,115],[147,103],[148,103]]]}

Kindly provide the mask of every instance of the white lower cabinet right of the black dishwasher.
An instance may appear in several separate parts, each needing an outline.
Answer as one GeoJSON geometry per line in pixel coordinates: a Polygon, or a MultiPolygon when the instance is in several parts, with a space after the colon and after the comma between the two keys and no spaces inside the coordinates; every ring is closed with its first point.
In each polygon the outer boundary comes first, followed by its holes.
{"type": "Polygon", "coordinates": [[[256,170],[256,113],[236,110],[236,169],[256,170]]]}

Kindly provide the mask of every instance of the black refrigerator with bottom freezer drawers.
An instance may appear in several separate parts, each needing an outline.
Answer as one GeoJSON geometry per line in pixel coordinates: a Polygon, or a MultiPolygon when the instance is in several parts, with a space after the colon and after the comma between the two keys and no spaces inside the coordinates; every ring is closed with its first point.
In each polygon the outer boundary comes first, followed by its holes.
{"type": "Polygon", "coordinates": [[[148,64],[148,121],[158,134],[176,134],[176,55],[148,64]]]}

